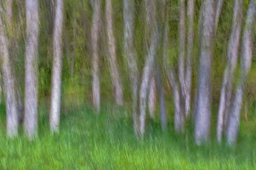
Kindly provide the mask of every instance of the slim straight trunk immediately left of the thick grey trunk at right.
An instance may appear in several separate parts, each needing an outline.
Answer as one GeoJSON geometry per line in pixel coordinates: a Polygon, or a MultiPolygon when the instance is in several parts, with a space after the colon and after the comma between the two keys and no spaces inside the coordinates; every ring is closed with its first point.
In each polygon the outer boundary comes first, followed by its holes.
{"type": "Polygon", "coordinates": [[[192,57],[194,46],[194,0],[188,1],[187,9],[188,35],[187,35],[187,68],[185,75],[185,116],[188,118],[191,109],[191,80],[192,80],[192,57]]]}

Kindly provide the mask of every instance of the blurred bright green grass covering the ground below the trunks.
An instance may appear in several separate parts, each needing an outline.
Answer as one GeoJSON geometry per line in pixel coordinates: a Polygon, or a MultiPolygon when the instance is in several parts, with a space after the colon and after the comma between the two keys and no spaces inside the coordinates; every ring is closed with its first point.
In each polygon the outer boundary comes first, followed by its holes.
{"type": "Polygon", "coordinates": [[[247,129],[255,129],[254,120],[241,125],[236,148],[218,146],[215,137],[197,147],[192,127],[186,140],[174,134],[172,122],[169,131],[162,132],[158,120],[148,120],[146,137],[138,141],[132,120],[119,116],[124,110],[104,109],[97,116],[88,107],[62,114],[60,133],[51,135],[47,112],[40,109],[38,137],[30,142],[22,133],[6,138],[4,106],[0,107],[0,169],[256,168],[256,131],[247,129]]]}

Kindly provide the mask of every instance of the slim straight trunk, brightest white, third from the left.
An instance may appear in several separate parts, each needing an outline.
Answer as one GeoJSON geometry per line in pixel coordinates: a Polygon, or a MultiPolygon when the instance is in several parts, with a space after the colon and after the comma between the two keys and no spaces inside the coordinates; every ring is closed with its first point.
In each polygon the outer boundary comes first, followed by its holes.
{"type": "Polygon", "coordinates": [[[55,5],[55,20],[53,30],[53,64],[50,126],[52,132],[59,132],[60,96],[62,86],[62,29],[63,29],[63,0],[57,0],[55,5]]]}

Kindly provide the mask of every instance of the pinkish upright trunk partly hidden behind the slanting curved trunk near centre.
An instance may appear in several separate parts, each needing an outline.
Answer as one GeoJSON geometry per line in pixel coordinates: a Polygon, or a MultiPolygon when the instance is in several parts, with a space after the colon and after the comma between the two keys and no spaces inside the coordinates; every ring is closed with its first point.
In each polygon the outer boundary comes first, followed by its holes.
{"type": "MultiPolygon", "coordinates": [[[[151,43],[151,36],[154,33],[154,23],[155,20],[155,1],[154,0],[144,0],[145,7],[145,42],[146,42],[146,53],[149,51],[149,46],[151,43]]],[[[155,106],[156,106],[156,88],[155,88],[155,76],[154,73],[149,82],[149,95],[148,95],[148,109],[149,116],[151,118],[155,117],[155,106]]]]}

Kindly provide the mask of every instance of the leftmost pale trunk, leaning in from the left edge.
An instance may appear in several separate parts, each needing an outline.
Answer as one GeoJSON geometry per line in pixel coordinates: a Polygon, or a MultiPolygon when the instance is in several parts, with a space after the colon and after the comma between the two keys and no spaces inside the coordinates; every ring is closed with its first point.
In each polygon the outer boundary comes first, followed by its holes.
{"type": "MultiPolygon", "coordinates": [[[[1,13],[3,16],[3,13],[1,13]]],[[[15,137],[18,135],[18,109],[16,106],[15,96],[15,80],[12,75],[12,67],[10,66],[10,56],[8,51],[8,39],[5,32],[5,26],[0,17],[0,56],[2,66],[2,77],[6,90],[6,125],[7,136],[15,137]]]]}

